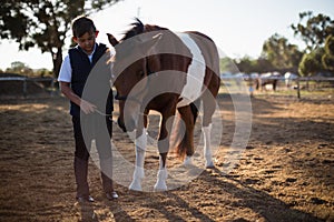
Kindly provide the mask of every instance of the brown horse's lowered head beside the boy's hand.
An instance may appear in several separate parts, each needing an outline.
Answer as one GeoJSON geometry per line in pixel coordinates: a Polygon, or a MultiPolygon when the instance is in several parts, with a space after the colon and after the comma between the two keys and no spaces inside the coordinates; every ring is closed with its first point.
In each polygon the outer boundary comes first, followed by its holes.
{"type": "Polygon", "coordinates": [[[119,100],[118,124],[124,131],[138,127],[141,101],[147,91],[148,58],[146,57],[159,40],[159,36],[144,33],[144,24],[138,20],[124,39],[118,41],[108,33],[108,40],[115,47],[112,58],[115,97],[119,100]]]}

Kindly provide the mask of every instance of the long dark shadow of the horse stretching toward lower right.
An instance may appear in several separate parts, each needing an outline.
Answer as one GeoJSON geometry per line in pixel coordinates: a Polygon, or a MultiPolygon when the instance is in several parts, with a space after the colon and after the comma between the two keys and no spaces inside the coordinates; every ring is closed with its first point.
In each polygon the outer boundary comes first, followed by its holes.
{"type": "MultiPolygon", "coordinates": [[[[223,175],[218,169],[213,169],[213,172],[217,175],[219,174],[220,179],[218,180],[217,176],[213,176],[210,171],[204,171],[197,180],[200,180],[199,183],[209,183],[212,184],[212,189],[217,191],[222,190],[226,192],[227,194],[232,195],[233,198],[237,199],[238,201],[230,203],[230,201],[226,202],[226,205],[233,204],[235,208],[248,208],[256,214],[261,215],[265,219],[265,221],[322,221],[321,219],[296,210],[292,209],[291,205],[287,203],[273,198],[268,193],[256,190],[236,179],[233,179],[228,175],[223,175]],[[215,188],[216,186],[216,188],[215,188]],[[217,188],[218,186],[218,188],[217,188]]],[[[191,185],[189,185],[191,186],[191,185]]],[[[197,206],[190,205],[187,201],[183,200],[179,192],[183,192],[183,188],[179,191],[170,191],[165,192],[163,195],[166,198],[171,199],[171,204],[176,204],[178,206],[181,206],[184,211],[187,211],[191,214],[191,218],[200,221],[216,221],[219,219],[213,220],[209,215],[205,214],[197,206]]],[[[207,192],[205,189],[203,189],[203,194],[205,195],[205,192],[207,192]]],[[[200,201],[200,200],[193,200],[194,202],[200,201]]],[[[216,203],[219,203],[219,200],[217,200],[216,203]]],[[[225,204],[224,200],[219,204],[225,204]]],[[[181,218],[177,215],[176,213],[173,213],[170,210],[168,210],[168,204],[145,204],[146,208],[153,208],[164,214],[168,221],[187,221],[188,219],[181,218]]],[[[223,212],[224,213],[224,212],[223,212]]],[[[226,211],[225,213],[228,213],[226,211]]],[[[238,218],[234,221],[248,221],[247,219],[238,218]]]]}

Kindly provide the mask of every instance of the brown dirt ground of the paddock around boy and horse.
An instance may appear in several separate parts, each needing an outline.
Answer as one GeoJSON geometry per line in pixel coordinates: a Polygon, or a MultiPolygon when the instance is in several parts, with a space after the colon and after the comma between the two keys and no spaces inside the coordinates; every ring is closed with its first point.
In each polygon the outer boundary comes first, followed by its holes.
{"type": "MultiPolygon", "coordinates": [[[[167,192],[116,184],[120,198],[110,202],[90,162],[96,202],[78,204],[68,101],[1,99],[0,221],[334,221],[334,94],[252,98],[250,138],[228,173],[220,169],[229,164],[234,104],[227,94],[218,101],[224,130],[216,169],[167,192]]],[[[134,161],[134,145],[116,125],[114,141],[134,161]]],[[[146,168],[157,169],[157,157],[149,153],[146,168]]]]}

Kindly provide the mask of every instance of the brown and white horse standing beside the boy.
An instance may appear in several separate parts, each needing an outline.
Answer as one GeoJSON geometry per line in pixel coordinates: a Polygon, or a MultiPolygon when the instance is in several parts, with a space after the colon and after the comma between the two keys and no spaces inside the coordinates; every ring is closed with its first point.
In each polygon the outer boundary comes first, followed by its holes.
{"type": "Polygon", "coordinates": [[[191,164],[200,101],[205,165],[214,168],[210,129],[220,85],[218,51],[209,37],[197,31],[176,33],[144,24],[139,19],[130,26],[120,40],[107,33],[115,48],[111,72],[117,91],[115,99],[119,101],[117,122],[125,132],[136,132],[135,171],[129,189],[143,190],[147,115],[155,110],[161,119],[157,143],[159,170],[154,190],[166,191],[169,150],[175,149],[185,165],[191,164]]]}

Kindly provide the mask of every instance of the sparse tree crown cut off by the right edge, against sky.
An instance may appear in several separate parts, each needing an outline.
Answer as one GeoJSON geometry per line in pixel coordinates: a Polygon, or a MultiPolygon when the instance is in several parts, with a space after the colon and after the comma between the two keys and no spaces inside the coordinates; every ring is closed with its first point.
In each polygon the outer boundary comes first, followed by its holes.
{"type": "Polygon", "coordinates": [[[291,28],[305,42],[307,52],[323,47],[325,39],[334,36],[334,21],[322,13],[313,16],[312,11],[299,13],[299,22],[291,28]]]}

